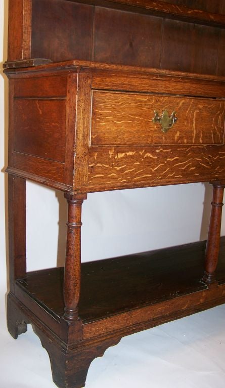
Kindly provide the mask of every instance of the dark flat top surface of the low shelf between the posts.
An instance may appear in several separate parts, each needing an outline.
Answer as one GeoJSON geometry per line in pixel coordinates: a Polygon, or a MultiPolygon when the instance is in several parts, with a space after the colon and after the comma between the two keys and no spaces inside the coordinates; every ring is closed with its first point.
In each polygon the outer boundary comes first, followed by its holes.
{"type": "MultiPolygon", "coordinates": [[[[206,290],[206,242],[197,242],[107,260],[82,263],[79,316],[93,323],[128,311],[153,306],[206,290]]],[[[16,287],[44,311],[63,315],[64,268],[27,273],[16,287]]],[[[218,284],[225,283],[225,237],[221,238],[218,284]]]]}

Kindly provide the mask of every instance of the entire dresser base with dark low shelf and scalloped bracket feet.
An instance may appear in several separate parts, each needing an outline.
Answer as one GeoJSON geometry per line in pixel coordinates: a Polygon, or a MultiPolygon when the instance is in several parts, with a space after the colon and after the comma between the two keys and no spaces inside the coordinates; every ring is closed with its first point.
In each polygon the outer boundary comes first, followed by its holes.
{"type": "Polygon", "coordinates": [[[205,241],[83,263],[74,342],[65,337],[65,325],[67,333],[71,327],[63,319],[64,268],[27,273],[8,295],[9,332],[17,338],[31,323],[49,353],[54,382],[80,388],[93,359],[122,336],[225,302],[225,238],[210,286],[202,281],[204,251],[205,241]]]}

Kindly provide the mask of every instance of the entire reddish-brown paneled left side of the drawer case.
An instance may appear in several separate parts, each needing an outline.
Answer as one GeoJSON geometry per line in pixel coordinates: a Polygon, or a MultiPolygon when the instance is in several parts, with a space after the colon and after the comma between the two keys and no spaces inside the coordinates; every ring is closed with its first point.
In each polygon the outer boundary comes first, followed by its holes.
{"type": "Polygon", "coordinates": [[[69,191],[74,172],[77,73],[9,77],[8,171],[69,191]]]}

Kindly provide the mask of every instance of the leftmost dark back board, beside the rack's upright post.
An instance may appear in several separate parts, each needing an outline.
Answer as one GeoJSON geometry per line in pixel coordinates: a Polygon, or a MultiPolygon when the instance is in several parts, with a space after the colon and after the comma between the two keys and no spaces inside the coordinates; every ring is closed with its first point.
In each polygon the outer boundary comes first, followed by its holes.
{"type": "Polygon", "coordinates": [[[93,7],[63,0],[33,0],[31,56],[91,60],[93,7]]]}

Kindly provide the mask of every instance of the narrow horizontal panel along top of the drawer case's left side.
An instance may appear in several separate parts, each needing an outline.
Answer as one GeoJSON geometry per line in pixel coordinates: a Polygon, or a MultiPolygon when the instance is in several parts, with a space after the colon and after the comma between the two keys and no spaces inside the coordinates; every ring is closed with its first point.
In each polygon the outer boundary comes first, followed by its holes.
{"type": "Polygon", "coordinates": [[[22,78],[15,82],[15,97],[65,97],[67,76],[22,78]]]}

